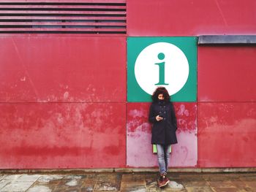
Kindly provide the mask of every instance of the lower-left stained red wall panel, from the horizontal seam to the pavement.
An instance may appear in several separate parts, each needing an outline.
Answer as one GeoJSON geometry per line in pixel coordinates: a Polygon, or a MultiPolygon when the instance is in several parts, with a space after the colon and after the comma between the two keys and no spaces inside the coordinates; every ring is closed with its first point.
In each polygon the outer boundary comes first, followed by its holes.
{"type": "Polygon", "coordinates": [[[0,104],[0,168],[125,167],[125,109],[125,103],[0,104]]]}

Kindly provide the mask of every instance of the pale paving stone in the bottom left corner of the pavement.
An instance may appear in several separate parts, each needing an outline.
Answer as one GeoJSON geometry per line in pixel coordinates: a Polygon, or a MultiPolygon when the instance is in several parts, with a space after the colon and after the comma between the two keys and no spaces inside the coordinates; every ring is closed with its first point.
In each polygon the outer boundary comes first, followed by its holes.
{"type": "Polygon", "coordinates": [[[28,190],[32,184],[33,182],[11,182],[1,188],[1,192],[23,192],[28,190]]]}

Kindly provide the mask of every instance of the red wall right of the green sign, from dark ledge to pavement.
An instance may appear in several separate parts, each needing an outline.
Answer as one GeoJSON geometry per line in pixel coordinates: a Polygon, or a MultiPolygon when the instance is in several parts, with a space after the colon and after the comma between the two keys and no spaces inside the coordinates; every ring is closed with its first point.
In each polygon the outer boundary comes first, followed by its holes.
{"type": "Polygon", "coordinates": [[[256,166],[255,55],[249,46],[198,48],[199,166],[256,166]]]}

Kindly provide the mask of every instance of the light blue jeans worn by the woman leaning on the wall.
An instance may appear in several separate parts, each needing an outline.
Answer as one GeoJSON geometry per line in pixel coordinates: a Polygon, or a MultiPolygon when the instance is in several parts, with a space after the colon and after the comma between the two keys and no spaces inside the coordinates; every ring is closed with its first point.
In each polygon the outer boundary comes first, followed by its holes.
{"type": "Polygon", "coordinates": [[[170,145],[157,144],[157,158],[159,164],[159,172],[161,174],[167,172],[170,160],[170,145]]]}

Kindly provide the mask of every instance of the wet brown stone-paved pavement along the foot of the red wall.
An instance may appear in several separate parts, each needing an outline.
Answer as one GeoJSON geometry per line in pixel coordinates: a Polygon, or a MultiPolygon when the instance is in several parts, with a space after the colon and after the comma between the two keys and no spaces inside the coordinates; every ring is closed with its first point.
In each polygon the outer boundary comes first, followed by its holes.
{"type": "Polygon", "coordinates": [[[83,174],[0,174],[1,192],[64,191],[256,191],[256,173],[168,174],[170,183],[157,187],[157,172],[83,174]]]}

